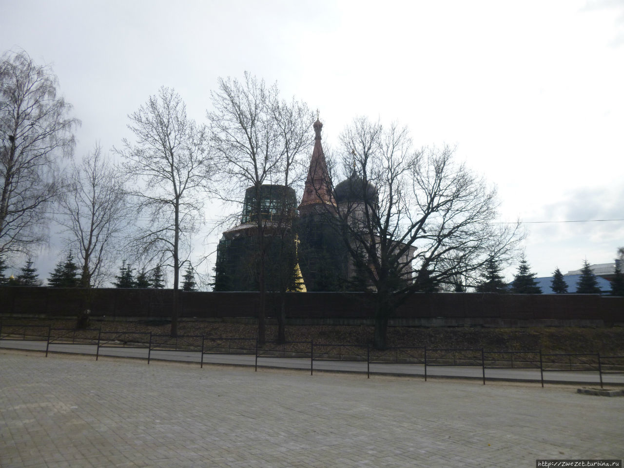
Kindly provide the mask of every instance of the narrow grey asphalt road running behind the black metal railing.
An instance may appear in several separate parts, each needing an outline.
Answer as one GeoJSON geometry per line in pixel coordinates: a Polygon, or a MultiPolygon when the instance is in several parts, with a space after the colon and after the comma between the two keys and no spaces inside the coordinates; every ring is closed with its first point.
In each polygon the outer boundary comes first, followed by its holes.
{"type": "MultiPolygon", "coordinates": [[[[0,341],[0,348],[30,349],[35,351],[46,351],[47,341],[22,341],[3,339],[0,341]]],[[[97,353],[95,344],[66,344],[51,343],[48,348],[52,353],[77,353],[91,354],[97,353]]],[[[113,356],[119,358],[148,358],[147,348],[112,347],[102,346],[99,349],[99,356],[113,356]]],[[[150,359],[163,361],[182,361],[199,364],[202,360],[202,353],[199,351],[166,351],[162,349],[152,349],[150,359]]],[[[227,364],[235,366],[255,366],[256,358],[254,354],[204,354],[205,364],[227,364]]],[[[333,371],[349,373],[366,373],[368,366],[366,361],[338,361],[320,360],[310,358],[278,358],[278,357],[258,357],[258,366],[269,368],[288,368],[310,371],[312,364],[313,371],[333,371]]],[[[425,368],[423,364],[404,363],[370,363],[371,374],[394,374],[404,376],[424,377],[425,368]]],[[[427,366],[427,378],[483,378],[481,366],[427,366]]],[[[485,379],[496,379],[505,381],[540,381],[540,369],[491,369],[485,368],[485,379]]],[[[624,384],[624,374],[602,374],[603,384],[624,384]]],[[[550,383],[573,383],[573,384],[600,384],[600,376],[595,371],[544,371],[544,382],[550,383]]]]}

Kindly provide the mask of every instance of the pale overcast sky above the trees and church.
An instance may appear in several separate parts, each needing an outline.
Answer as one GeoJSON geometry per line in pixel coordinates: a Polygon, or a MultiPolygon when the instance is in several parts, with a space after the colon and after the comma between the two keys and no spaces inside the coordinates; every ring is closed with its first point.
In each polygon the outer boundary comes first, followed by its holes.
{"type": "MultiPolygon", "coordinates": [[[[217,78],[250,71],[319,109],[324,144],[368,115],[408,125],[418,146],[456,145],[497,186],[501,221],[527,223],[539,276],[613,261],[624,246],[622,0],[0,6],[1,49],[52,64],[82,120],[77,155],[130,137],[127,115],[161,85],[203,122],[217,78]]],[[[62,248],[51,235],[34,259],[42,278],[62,248]]]]}

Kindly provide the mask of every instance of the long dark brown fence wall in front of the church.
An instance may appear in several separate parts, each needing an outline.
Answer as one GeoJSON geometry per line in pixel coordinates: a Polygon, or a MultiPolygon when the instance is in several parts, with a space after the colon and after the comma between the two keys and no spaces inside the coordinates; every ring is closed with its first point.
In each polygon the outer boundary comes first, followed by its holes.
{"type": "MultiPolygon", "coordinates": [[[[269,293],[267,315],[275,317],[278,295],[269,293]]],[[[0,287],[2,316],[75,316],[88,305],[93,318],[165,319],[171,290],[94,290],[0,287]]],[[[180,292],[181,318],[253,318],[258,293],[180,292]]],[[[373,318],[364,293],[287,293],[290,323],[363,323],[373,318]]],[[[624,298],[600,295],[493,295],[432,293],[411,296],[391,324],[421,326],[624,326],[624,298]]]]}

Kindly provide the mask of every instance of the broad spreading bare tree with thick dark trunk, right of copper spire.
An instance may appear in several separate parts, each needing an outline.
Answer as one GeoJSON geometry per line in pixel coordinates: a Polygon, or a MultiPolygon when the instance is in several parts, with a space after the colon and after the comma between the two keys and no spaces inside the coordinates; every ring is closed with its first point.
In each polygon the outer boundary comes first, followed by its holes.
{"type": "Polygon", "coordinates": [[[375,345],[388,319],[417,291],[477,278],[488,258],[507,261],[522,239],[518,223],[495,224],[495,190],[453,150],[415,150],[406,128],[356,119],[341,135],[349,178],[334,188],[337,218],[353,270],[375,310],[375,345]]]}

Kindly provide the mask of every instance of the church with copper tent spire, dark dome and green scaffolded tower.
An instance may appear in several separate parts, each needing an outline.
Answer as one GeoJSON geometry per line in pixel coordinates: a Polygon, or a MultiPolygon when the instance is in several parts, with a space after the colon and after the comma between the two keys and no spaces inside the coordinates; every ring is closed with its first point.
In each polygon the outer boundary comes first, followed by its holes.
{"type": "Polygon", "coordinates": [[[259,268],[258,216],[266,252],[268,291],[353,291],[366,289],[349,256],[338,213],[354,220],[377,203],[377,191],[364,185],[355,170],[333,187],[323,145],[323,124],[314,122],[314,148],[303,197],[296,207],[295,190],[263,185],[261,213],[256,214],[255,187],[245,193],[241,223],[223,233],[217,248],[215,291],[257,291],[259,268]]]}

